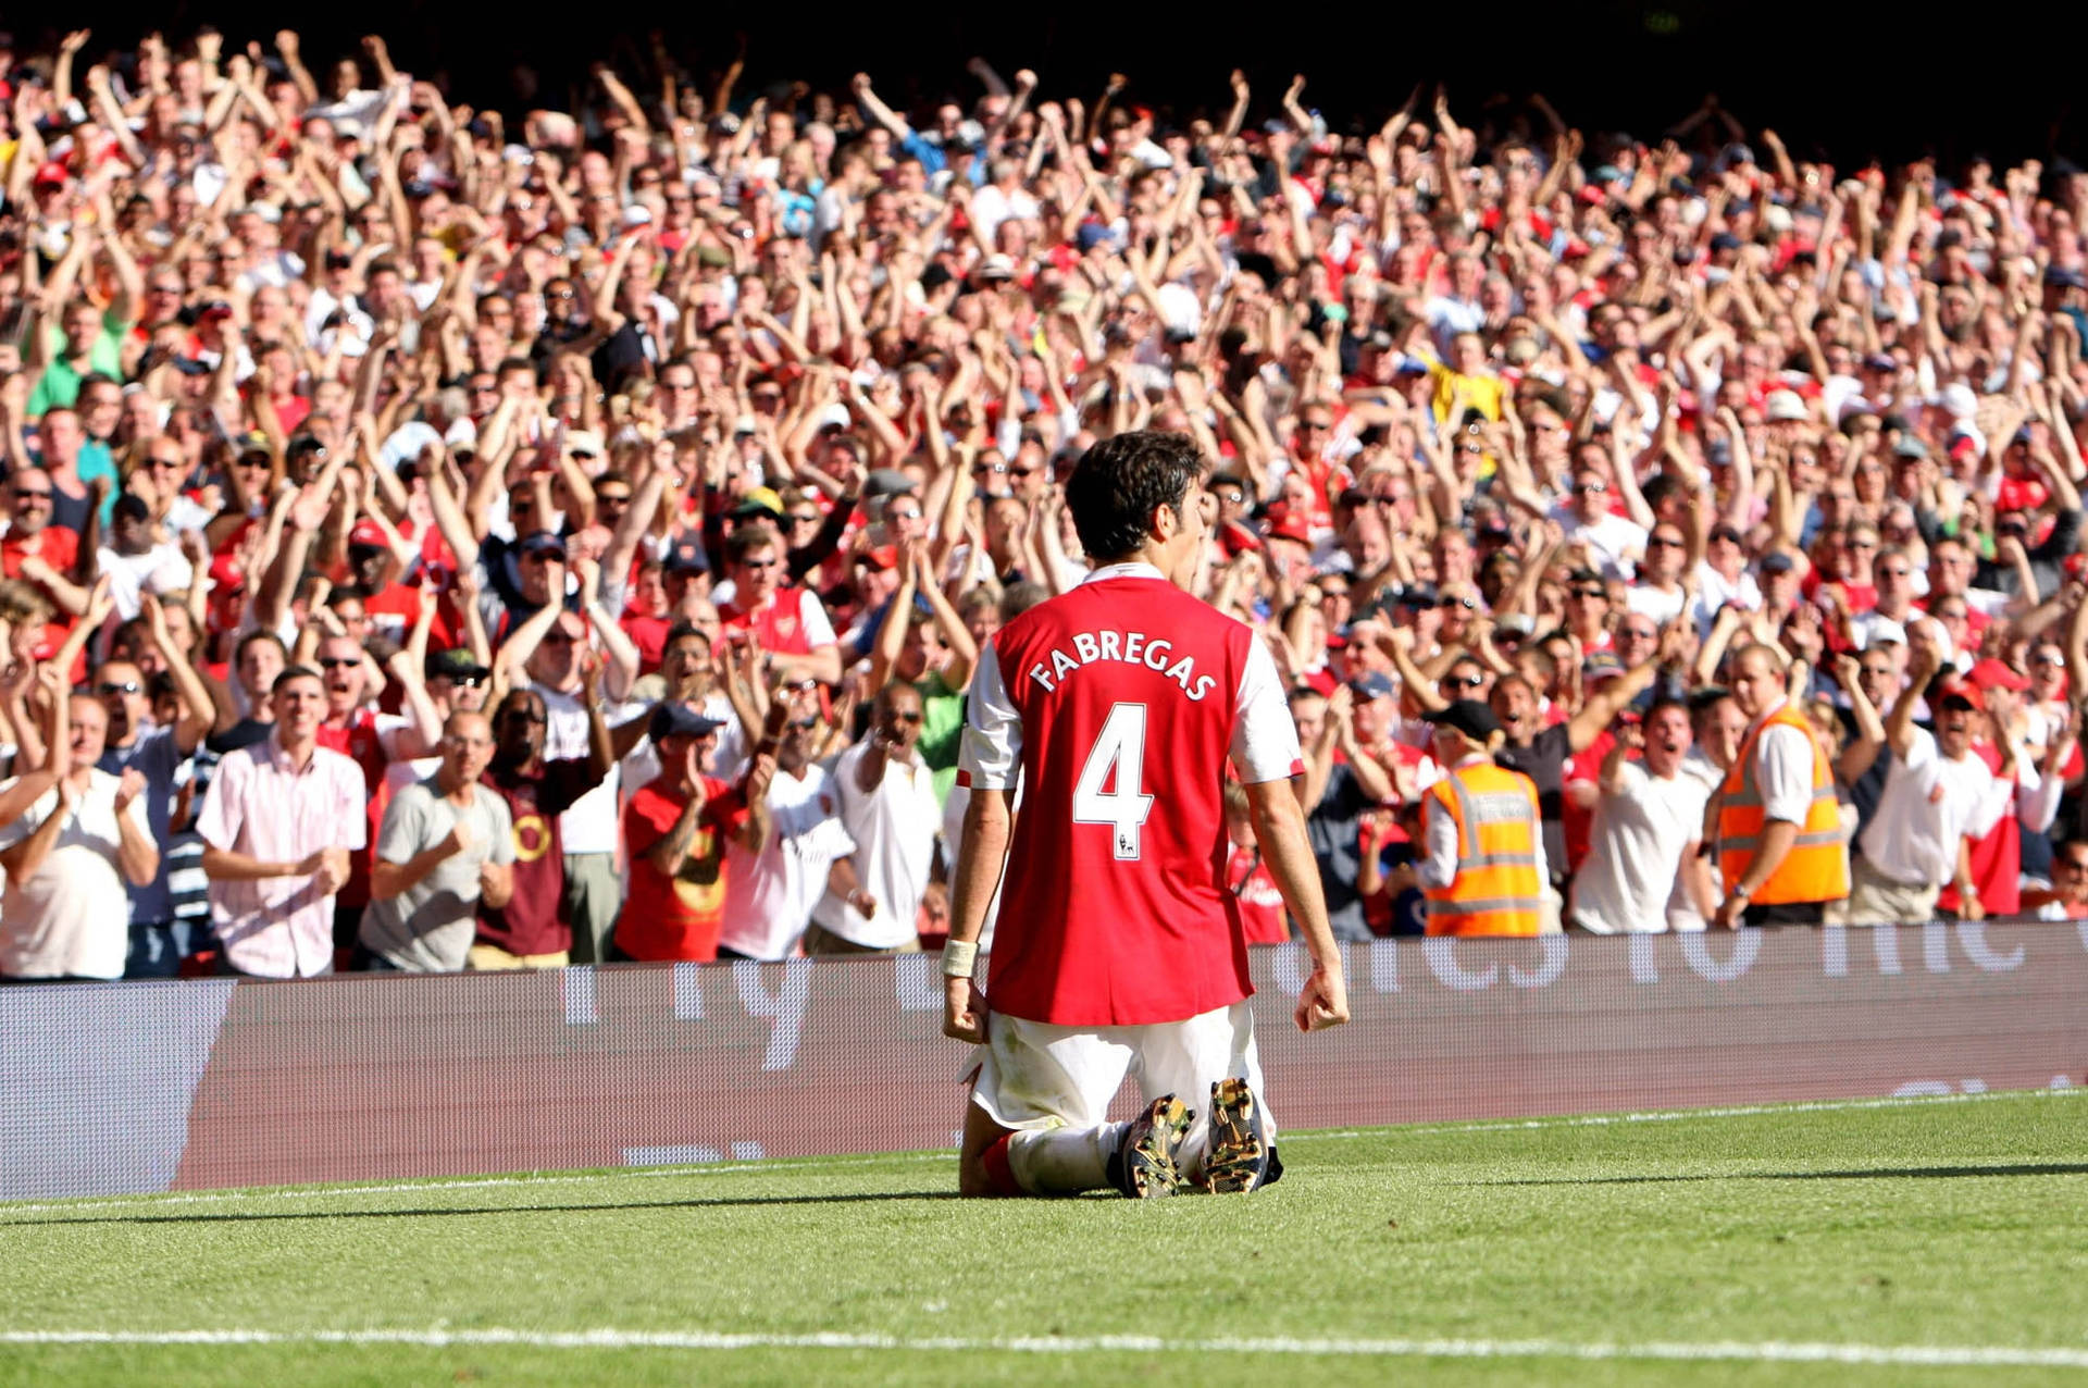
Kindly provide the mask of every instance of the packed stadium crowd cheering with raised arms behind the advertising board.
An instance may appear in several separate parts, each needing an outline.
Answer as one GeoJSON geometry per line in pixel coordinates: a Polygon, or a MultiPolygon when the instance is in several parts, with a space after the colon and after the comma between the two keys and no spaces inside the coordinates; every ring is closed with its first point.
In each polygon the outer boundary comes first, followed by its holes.
{"type": "Polygon", "coordinates": [[[1827,920],[2088,914],[2082,173],[739,75],[4,42],[0,975],[933,941],[975,660],[1134,428],[1213,463],[1340,937],[1424,927],[1457,701],[1547,927],[1758,918],[1729,781],[1827,920]],[[1785,699],[1825,785],[1735,770],[1785,699]]]}

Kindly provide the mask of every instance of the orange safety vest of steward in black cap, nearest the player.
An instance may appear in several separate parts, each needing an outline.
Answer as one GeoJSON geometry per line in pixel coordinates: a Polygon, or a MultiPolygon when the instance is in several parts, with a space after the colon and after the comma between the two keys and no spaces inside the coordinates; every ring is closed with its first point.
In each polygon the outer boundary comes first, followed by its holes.
{"type": "Polygon", "coordinates": [[[1428,889],[1430,935],[1535,935],[1545,885],[1537,877],[1543,820],[1528,776],[1487,762],[1428,787],[1457,824],[1457,877],[1428,889]]]}

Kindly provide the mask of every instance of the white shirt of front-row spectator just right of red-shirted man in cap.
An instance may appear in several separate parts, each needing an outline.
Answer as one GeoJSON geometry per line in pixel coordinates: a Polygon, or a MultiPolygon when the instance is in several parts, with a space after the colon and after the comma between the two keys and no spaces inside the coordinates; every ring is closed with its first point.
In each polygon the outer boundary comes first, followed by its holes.
{"type": "Polygon", "coordinates": [[[798,948],[812,904],[827,891],[827,868],[856,852],[841,829],[827,770],[802,776],[777,770],[768,783],[768,843],[750,854],[739,837],[725,852],[725,920],[718,946],[748,958],[785,958],[798,948]]]}

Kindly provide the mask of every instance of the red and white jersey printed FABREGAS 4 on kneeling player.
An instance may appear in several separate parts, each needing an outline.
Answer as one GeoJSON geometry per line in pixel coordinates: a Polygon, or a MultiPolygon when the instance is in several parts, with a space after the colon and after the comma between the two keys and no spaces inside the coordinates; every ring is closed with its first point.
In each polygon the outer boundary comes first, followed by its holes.
{"type": "Polygon", "coordinates": [[[988,975],[996,1012],[1171,1023],[1255,991],[1226,891],[1228,756],[1247,783],[1303,770],[1276,662],[1157,568],[1100,568],[994,632],[958,783],[1023,785],[988,975]]]}

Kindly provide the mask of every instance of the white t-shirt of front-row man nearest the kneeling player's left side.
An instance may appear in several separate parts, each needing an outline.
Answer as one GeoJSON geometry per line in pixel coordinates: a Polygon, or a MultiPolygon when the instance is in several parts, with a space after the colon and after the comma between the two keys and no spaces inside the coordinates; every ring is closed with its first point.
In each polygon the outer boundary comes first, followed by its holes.
{"type": "Polygon", "coordinates": [[[856,879],[877,902],[871,916],[833,891],[821,895],[812,920],[841,939],[871,950],[892,950],[917,939],[921,893],[935,860],[935,774],[915,751],[910,762],[885,758],[875,791],[856,785],[856,770],[871,751],[856,743],[833,762],[833,793],[841,829],[856,843],[856,879]]]}

